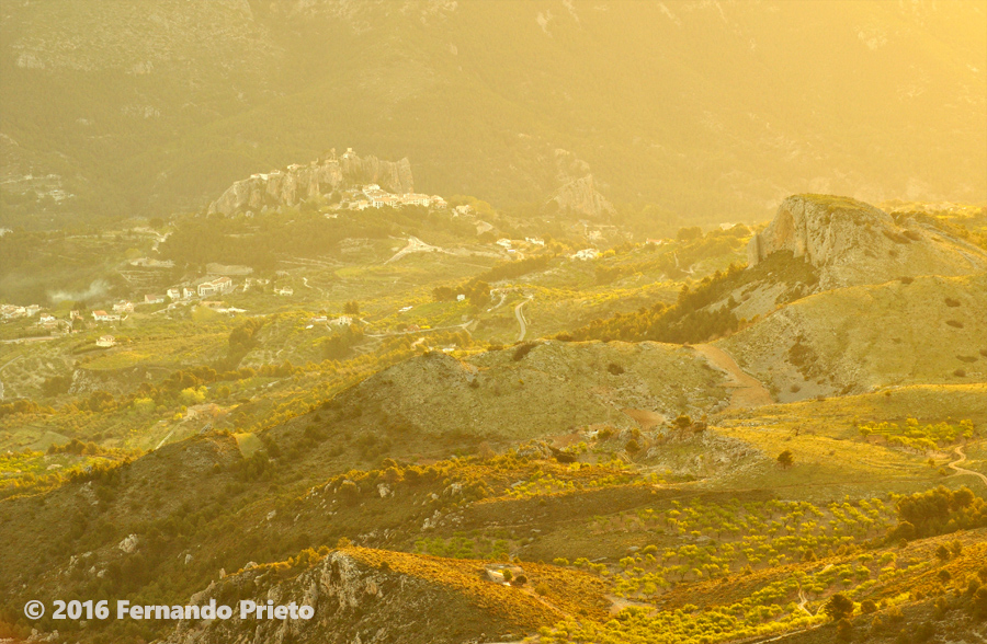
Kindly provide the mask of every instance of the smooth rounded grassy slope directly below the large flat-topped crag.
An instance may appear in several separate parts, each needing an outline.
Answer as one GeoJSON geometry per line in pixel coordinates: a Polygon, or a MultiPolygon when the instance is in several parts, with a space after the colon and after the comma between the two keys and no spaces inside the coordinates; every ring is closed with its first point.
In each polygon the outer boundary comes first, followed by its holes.
{"type": "Polygon", "coordinates": [[[716,344],[783,402],[894,384],[983,382],[985,294],[985,274],[829,290],[716,344]]]}

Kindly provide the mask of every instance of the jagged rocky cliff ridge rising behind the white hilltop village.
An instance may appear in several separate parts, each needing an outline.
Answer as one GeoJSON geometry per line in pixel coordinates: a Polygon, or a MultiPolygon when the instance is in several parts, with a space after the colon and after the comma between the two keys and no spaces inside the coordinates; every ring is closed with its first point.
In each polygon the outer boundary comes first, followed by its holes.
{"type": "Polygon", "coordinates": [[[294,206],[316,195],[367,183],[376,183],[398,194],[413,192],[411,163],[408,159],[360,158],[351,151],[337,158],[333,151],[328,158],[308,165],[288,165],[285,170],[254,174],[234,183],[209,205],[209,214],[231,215],[263,206],[294,206]]]}

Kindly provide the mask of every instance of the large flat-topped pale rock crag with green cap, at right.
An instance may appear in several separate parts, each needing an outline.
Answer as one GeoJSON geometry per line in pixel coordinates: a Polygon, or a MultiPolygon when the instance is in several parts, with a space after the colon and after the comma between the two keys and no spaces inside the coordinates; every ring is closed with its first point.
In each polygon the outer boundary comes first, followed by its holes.
{"type": "Polygon", "coordinates": [[[782,202],[774,220],[751,238],[748,265],[778,251],[792,251],[818,268],[820,289],[987,269],[987,253],[929,222],[896,221],[880,208],[830,195],[782,202]]]}

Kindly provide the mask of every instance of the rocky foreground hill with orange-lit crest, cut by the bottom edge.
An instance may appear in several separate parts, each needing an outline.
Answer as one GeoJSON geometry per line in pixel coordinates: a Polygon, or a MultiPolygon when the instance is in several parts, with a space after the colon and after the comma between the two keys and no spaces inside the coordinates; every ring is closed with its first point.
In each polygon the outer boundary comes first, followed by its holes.
{"type": "Polygon", "coordinates": [[[337,550],[314,565],[252,566],[213,582],[190,603],[232,608],[229,619],[182,620],[160,644],[296,642],[460,644],[515,640],[560,619],[536,599],[483,582],[483,568],[416,555],[337,550]],[[387,559],[384,559],[384,555],[387,559]],[[298,571],[302,567],[302,572],[298,571]],[[310,619],[241,619],[238,600],[309,606],[310,619]],[[519,605],[519,606],[514,606],[519,605]],[[499,610],[509,606],[514,610],[499,610]],[[541,619],[538,619],[541,618],[541,619]],[[541,622],[541,623],[538,623],[541,622]]]}

